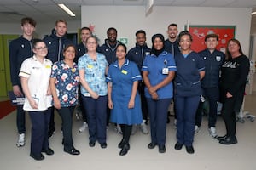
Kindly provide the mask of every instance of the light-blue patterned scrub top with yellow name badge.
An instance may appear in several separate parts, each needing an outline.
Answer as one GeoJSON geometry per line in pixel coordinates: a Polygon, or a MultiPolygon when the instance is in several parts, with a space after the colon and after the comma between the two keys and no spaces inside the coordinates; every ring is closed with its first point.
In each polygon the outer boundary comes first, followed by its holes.
{"type": "MultiPolygon", "coordinates": [[[[79,58],[79,70],[84,69],[84,80],[88,83],[90,89],[100,96],[108,93],[106,82],[106,68],[108,61],[105,55],[97,53],[97,59],[93,60],[88,54],[79,58]]],[[[90,97],[89,92],[81,86],[81,94],[90,97]]]]}

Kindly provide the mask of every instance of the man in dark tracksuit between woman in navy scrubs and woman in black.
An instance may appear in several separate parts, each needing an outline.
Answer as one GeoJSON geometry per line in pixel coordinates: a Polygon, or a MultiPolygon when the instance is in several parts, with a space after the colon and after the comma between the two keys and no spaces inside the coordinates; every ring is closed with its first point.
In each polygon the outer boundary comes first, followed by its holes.
{"type": "MultiPolygon", "coordinates": [[[[209,133],[213,138],[217,137],[215,124],[217,121],[217,106],[219,99],[219,71],[221,65],[224,63],[224,53],[218,51],[216,46],[218,45],[218,35],[208,34],[205,37],[205,43],[207,48],[199,54],[201,58],[205,61],[206,75],[201,80],[201,88],[203,91],[202,96],[206,98],[209,102],[209,115],[208,115],[208,128],[209,133]]],[[[201,127],[202,119],[202,108],[203,102],[200,103],[198,111],[195,116],[195,133],[198,132],[199,127],[201,127]]]]}

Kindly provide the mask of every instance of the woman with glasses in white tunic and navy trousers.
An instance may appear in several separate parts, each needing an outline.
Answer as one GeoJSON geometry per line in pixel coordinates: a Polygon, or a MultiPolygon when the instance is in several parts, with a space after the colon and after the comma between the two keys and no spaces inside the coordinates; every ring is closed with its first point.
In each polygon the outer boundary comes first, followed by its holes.
{"type": "Polygon", "coordinates": [[[51,107],[49,76],[52,62],[45,59],[48,50],[43,40],[34,39],[32,48],[34,55],[22,63],[19,76],[26,96],[23,109],[28,111],[32,122],[30,156],[40,161],[44,160],[42,152],[46,155],[54,154],[48,141],[51,107]]]}

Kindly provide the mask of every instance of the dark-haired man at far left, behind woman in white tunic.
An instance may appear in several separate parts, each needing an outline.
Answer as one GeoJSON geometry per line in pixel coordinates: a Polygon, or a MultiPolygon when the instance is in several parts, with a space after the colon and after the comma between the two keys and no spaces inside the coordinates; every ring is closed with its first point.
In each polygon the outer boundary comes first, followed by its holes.
{"type": "MultiPolygon", "coordinates": [[[[21,19],[21,30],[23,34],[21,37],[13,40],[9,44],[9,64],[10,64],[10,76],[13,86],[13,91],[16,97],[24,96],[21,84],[20,84],[20,67],[21,63],[32,57],[32,37],[36,30],[36,21],[30,17],[21,19]]],[[[17,146],[25,145],[25,133],[26,133],[26,118],[23,105],[17,105],[17,117],[16,124],[19,132],[19,139],[17,146]]]]}

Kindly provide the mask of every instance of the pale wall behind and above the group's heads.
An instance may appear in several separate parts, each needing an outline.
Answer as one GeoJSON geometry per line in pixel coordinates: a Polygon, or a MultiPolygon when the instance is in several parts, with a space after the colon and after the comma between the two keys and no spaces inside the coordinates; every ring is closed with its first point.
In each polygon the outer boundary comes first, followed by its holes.
{"type": "Polygon", "coordinates": [[[177,23],[183,31],[189,25],[236,26],[236,38],[241,42],[245,54],[249,50],[252,8],[202,8],[202,7],[154,7],[148,17],[144,7],[136,6],[82,6],[81,26],[95,25],[96,36],[101,44],[107,37],[108,27],[115,27],[120,37],[128,38],[128,48],[135,44],[135,32],[147,32],[148,46],[154,33],[166,36],[167,26],[177,23]]]}

